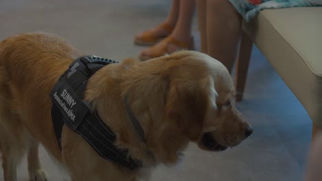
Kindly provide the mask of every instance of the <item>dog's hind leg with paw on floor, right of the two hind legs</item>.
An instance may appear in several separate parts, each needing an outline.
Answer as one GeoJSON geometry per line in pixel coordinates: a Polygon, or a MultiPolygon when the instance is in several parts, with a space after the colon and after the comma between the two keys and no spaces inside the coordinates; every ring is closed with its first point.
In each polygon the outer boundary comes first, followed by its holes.
{"type": "Polygon", "coordinates": [[[33,143],[28,152],[28,171],[32,181],[48,180],[47,173],[41,169],[38,153],[39,143],[33,143]]]}

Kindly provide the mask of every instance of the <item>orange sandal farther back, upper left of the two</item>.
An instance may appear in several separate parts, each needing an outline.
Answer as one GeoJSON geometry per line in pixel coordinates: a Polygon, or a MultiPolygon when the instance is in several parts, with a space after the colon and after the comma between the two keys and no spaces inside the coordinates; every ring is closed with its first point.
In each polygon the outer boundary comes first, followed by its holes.
{"type": "Polygon", "coordinates": [[[173,31],[173,27],[168,25],[168,23],[164,22],[153,29],[137,34],[136,37],[134,38],[134,43],[136,45],[149,45],[149,46],[154,45],[155,43],[158,43],[160,40],[166,38],[169,34],[171,34],[172,31],[173,31]],[[155,36],[156,29],[165,30],[167,32],[167,35],[155,36]]]}

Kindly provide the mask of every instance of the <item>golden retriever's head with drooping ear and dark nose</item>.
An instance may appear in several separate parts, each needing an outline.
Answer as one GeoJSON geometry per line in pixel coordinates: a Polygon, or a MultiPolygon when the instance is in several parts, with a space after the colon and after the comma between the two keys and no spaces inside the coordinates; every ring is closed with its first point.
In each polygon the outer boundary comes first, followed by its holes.
{"type": "Polygon", "coordinates": [[[253,130],[235,108],[233,81],[223,64],[203,53],[181,51],[171,57],[167,119],[206,150],[238,145],[253,130]]]}

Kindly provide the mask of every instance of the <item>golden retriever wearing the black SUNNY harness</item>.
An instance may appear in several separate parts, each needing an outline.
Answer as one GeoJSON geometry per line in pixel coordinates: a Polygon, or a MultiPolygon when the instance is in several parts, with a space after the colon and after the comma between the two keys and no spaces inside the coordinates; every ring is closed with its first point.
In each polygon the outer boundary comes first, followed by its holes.
{"type": "Polygon", "coordinates": [[[65,166],[73,181],[149,180],[158,164],[173,165],[189,143],[222,151],[252,132],[235,108],[233,81],[223,64],[204,53],[178,51],[145,62],[109,64],[89,78],[84,101],[116,134],[142,167],[128,169],[101,157],[63,126],[61,149],[51,117],[50,92],[71,62],[83,56],[62,38],[29,33],[0,43],[0,148],[4,180],[17,180],[16,167],[28,154],[30,180],[48,180],[38,157],[39,143],[65,166]],[[144,130],[133,129],[125,106],[144,130]]]}

